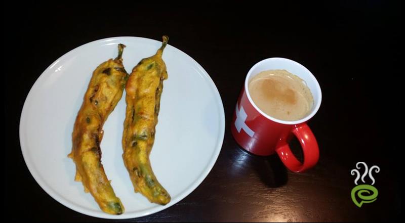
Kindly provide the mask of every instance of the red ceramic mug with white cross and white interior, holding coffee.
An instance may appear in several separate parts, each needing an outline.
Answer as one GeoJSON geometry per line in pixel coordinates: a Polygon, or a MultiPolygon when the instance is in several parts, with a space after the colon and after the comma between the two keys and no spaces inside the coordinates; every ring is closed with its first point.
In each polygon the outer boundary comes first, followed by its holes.
{"type": "Polygon", "coordinates": [[[312,73],[301,64],[286,58],[269,58],[255,64],[248,72],[245,85],[236,103],[231,131],[233,138],[245,150],[260,156],[277,153],[284,165],[293,172],[302,172],[313,167],[319,158],[315,136],[307,121],[320,107],[322,94],[312,73]],[[261,111],[249,94],[249,80],[265,70],[284,69],[298,77],[312,93],[313,105],[309,114],[297,121],[285,121],[271,117],[261,111]],[[301,163],[291,152],[289,140],[297,137],[304,154],[301,163]]]}

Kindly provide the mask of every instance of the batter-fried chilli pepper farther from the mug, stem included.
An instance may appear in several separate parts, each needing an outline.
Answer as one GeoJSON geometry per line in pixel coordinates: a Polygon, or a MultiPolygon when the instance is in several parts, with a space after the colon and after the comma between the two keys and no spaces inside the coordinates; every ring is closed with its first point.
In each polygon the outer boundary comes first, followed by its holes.
{"type": "Polygon", "coordinates": [[[115,196],[101,164],[100,142],[103,125],[123,95],[128,74],[118,46],[118,57],[100,64],[93,72],[82,107],[77,114],[72,133],[72,152],[68,155],[76,164],[76,181],[82,181],[100,208],[109,214],[121,214],[124,206],[115,196]]]}

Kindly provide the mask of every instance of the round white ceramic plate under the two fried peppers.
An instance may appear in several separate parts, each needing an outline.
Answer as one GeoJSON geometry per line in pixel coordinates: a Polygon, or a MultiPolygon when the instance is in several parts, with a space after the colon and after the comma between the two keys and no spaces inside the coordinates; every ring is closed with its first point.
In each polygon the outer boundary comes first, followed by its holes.
{"type": "MultiPolygon", "coordinates": [[[[208,175],[218,158],[225,131],[221,97],[208,73],[190,56],[167,46],[163,54],[169,79],[164,82],[150,154],[159,182],[172,196],[166,206],[150,203],[134,193],[121,158],[125,94],[104,124],[102,163],[125,213],[102,212],[83,185],[74,181],[71,150],[73,123],[93,70],[117,55],[124,43],[127,71],[155,54],[161,42],[140,37],[114,37],[80,46],[50,65],[32,86],[21,113],[20,143],[36,182],[68,208],[102,218],[140,217],[166,209],[189,195],[208,175]]],[[[170,40],[169,40],[170,43],[170,40]]],[[[38,58],[37,58],[38,59],[38,58]]]]}

